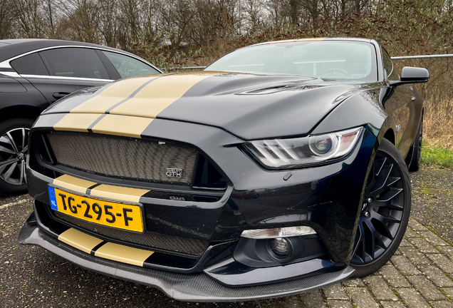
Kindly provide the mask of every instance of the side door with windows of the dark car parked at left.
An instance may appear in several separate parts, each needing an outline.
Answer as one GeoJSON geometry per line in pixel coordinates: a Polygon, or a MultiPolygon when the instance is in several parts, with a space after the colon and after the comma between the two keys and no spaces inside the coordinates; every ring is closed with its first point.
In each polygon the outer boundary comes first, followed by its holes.
{"type": "Polygon", "coordinates": [[[33,83],[49,103],[81,88],[113,81],[92,48],[52,48],[17,58],[11,61],[11,66],[33,83]],[[28,64],[36,61],[42,62],[43,67],[31,71],[28,64]]]}

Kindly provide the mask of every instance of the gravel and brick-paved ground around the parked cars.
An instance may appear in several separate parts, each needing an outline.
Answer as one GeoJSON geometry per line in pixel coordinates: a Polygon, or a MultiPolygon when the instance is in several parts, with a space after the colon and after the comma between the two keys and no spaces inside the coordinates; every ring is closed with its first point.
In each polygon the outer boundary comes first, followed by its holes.
{"type": "Polygon", "coordinates": [[[0,306],[453,307],[453,172],[422,168],[411,180],[410,228],[379,272],[301,296],[219,304],[177,302],[157,289],[83,270],[40,247],[19,245],[31,198],[0,197],[0,306]]]}

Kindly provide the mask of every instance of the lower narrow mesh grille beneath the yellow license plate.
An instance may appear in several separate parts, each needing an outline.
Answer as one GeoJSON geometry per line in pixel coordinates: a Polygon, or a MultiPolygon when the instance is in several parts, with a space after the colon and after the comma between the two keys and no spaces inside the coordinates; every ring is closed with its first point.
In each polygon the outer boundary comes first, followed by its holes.
{"type": "Polygon", "coordinates": [[[69,222],[85,230],[96,232],[105,237],[125,242],[132,242],[145,247],[160,248],[163,250],[182,252],[188,255],[202,255],[209,244],[204,240],[196,240],[187,237],[176,237],[172,235],[163,235],[157,232],[145,232],[144,234],[132,233],[123,230],[117,230],[103,225],[97,225],[84,220],[79,220],[70,215],[53,211],[61,220],[69,222]]]}

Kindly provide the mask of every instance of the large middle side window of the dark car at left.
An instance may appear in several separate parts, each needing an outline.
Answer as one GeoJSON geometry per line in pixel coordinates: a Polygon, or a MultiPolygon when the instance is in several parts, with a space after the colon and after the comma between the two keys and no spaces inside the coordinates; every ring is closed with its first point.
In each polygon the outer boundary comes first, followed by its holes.
{"type": "Polygon", "coordinates": [[[93,49],[57,48],[41,51],[52,76],[110,79],[93,49]]]}

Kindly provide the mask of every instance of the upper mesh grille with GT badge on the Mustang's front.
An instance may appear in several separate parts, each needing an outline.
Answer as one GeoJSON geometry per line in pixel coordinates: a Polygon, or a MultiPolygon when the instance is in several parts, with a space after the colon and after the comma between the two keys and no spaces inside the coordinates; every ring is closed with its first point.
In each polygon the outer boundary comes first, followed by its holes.
{"type": "Polygon", "coordinates": [[[197,158],[197,150],[157,140],[62,132],[47,137],[58,163],[114,178],[188,186],[197,158]],[[182,178],[167,177],[166,168],[182,169],[182,178]]]}

